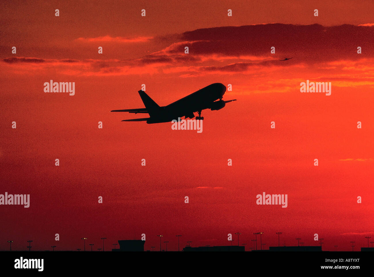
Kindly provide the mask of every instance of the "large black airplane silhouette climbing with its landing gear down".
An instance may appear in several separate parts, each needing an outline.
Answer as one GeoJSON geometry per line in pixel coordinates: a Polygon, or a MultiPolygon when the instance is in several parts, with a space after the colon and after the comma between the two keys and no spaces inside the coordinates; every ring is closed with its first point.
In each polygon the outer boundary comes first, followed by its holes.
{"type": "Polygon", "coordinates": [[[149,114],[147,118],[137,119],[125,119],[122,121],[147,121],[151,123],[163,123],[170,122],[172,120],[178,120],[178,117],[187,117],[192,119],[193,113],[198,113],[196,120],[203,120],[201,111],[205,109],[211,109],[212,111],[218,111],[225,107],[226,103],[236,101],[236,99],[224,101],[222,100],[223,95],[226,92],[226,86],[221,83],[214,83],[206,86],[202,89],[197,90],[186,97],[179,99],[167,106],[160,107],[156,104],[148,95],[142,90],[138,93],[144,103],[145,108],[139,109],[128,109],[128,110],[113,110],[111,112],[128,112],[134,114],[149,114]],[[218,100],[220,99],[220,100],[218,100]],[[218,100],[218,101],[216,101],[218,100]]]}

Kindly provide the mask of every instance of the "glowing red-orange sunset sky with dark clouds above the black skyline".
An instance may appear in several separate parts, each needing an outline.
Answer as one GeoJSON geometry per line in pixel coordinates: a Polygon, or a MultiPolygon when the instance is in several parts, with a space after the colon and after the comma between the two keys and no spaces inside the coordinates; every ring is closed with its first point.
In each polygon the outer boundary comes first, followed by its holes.
{"type": "Polygon", "coordinates": [[[254,232],[266,249],[276,232],[287,246],[318,245],[315,233],[324,250],[367,246],[374,4],[325,2],[0,3],[0,194],[30,194],[27,209],[0,206],[0,250],[9,239],[12,250],[75,250],[82,237],[97,249],[103,236],[109,250],[142,233],[147,250],[158,234],[177,250],[177,234],[182,248],[230,245],[237,231],[247,247],[254,232]],[[75,82],[75,95],[44,93],[49,80],[75,82]],[[331,95],[300,93],[306,80],[331,82],[331,95]],[[238,101],[203,111],[202,133],[109,112],[143,108],[142,84],[167,105],[216,82],[238,101]],[[288,194],[288,207],[257,205],[264,191],[288,194]]]}

